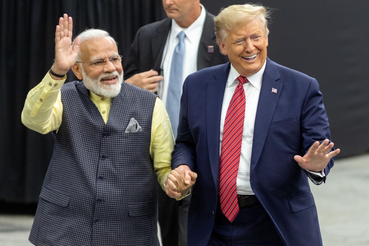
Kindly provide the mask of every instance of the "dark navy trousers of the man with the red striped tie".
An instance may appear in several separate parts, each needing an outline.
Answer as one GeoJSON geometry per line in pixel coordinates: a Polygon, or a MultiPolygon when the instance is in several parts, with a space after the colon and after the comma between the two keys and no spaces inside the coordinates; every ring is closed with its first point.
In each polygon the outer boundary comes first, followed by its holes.
{"type": "Polygon", "coordinates": [[[283,246],[283,243],[260,203],[240,208],[231,223],[218,202],[208,246],[283,246]]]}

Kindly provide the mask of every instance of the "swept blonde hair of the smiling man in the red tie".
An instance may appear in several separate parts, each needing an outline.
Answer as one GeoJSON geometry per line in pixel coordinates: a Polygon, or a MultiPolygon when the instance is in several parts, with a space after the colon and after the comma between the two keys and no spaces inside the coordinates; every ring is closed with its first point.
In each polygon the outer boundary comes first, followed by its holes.
{"type": "Polygon", "coordinates": [[[270,19],[270,9],[258,4],[239,4],[223,8],[214,17],[215,36],[217,41],[223,42],[227,38],[227,31],[233,31],[249,21],[259,19],[264,29],[265,37],[269,34],[268,20],[270,19]]]}

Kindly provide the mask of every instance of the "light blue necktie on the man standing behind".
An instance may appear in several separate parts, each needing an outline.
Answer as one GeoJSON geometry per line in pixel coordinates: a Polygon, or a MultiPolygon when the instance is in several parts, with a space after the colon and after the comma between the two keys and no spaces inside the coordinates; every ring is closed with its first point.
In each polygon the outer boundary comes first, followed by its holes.
{"type": "Polygon", "coordinates": [[[179,39],[178,44],[174,48],[172,56],[172,65],[170,65],[169,85],[166,98],[166,111],[168,112],[170,124],[172,125],[172,131],[174,138],[177,137],[177,127],[179,118],[179,104],[182,94],[182,70],[183,59],[186,46],[184,46],[184,34],[181,31],[177,37],[179,39]]]}

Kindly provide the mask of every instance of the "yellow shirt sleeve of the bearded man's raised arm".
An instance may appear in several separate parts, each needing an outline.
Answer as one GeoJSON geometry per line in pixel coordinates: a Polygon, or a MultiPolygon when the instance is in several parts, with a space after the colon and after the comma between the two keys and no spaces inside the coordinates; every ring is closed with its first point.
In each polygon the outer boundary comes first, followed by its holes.
{"type": "Polygon", "coordinates": [[[26,127],[41,134],[59,129],[63,112],[60,89],[65,79],[66,76],[63,80],[53,80],[48,72],[41,83],[28,92],[21,115],[26,127]]]}

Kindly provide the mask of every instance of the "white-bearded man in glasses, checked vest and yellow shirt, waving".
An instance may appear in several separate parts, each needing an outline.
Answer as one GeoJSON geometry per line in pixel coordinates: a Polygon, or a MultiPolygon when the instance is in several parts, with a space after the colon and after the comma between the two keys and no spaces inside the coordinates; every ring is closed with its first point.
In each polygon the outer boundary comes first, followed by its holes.
{"type": "Polygon", "coordinates": [[[55,62],[22,122],[55,139],[29,240],[34,245],[159,245],[156,180],[165,190],[174,139],[162,101],[123,82],[116,42],[72,18],[55,31],[55,62]],[[66,83],[66,73],[83,82],[66,83]],[[155,176],[156,174],[156,176],[155,176]]]}

